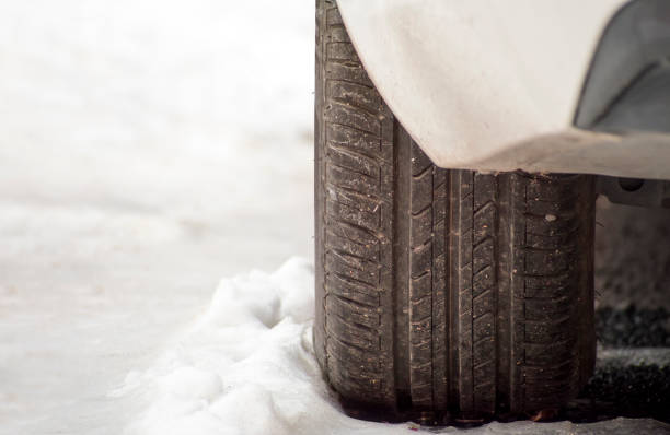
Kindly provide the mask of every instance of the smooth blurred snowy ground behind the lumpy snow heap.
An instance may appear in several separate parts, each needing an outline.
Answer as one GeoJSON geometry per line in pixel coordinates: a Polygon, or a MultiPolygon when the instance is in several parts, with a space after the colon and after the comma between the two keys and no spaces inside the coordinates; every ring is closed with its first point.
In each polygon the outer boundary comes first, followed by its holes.
{"type": "Polygon", "coordinates": [[[107,398],[223,275],[312,250],[313,4],[0,2],[0,433],[107,398]]]}

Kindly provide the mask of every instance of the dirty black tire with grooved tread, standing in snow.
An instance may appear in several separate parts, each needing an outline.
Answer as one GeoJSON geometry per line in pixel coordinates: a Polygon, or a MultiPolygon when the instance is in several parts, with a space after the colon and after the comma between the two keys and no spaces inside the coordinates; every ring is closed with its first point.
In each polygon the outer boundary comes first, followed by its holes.
{"type": "Polygon", "coordinates": [[[438,168],[316,1],[314,344],[347,407],[523,414],[594,363],[593,178],[438,168]]]}

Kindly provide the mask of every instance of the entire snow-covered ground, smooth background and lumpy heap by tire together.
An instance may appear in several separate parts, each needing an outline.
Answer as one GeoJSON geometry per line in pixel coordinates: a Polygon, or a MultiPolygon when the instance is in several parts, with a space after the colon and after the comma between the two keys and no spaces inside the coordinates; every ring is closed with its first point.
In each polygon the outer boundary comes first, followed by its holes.
{"type": "Polygon", "coordinates": [[[0,2],[0,434],[416,428],[344,416],[311,352],[313,23],[0,2]]]}

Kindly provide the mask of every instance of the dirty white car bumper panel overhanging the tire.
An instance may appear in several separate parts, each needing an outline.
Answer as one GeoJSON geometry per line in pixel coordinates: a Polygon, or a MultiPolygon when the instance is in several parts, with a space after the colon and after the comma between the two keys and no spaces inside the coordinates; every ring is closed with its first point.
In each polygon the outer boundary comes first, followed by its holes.
{"type": "Polygon", "coordinates": [[[624,3],[338,0],[372,82],[437,165],[670,178],[668,134],[573,127],[600,36],[624,3]]]}

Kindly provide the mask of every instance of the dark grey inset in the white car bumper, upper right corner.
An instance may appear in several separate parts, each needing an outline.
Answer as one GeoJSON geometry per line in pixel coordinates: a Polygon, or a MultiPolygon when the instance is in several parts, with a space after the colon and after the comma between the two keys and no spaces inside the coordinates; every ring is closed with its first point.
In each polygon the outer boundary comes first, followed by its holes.
{"type": "Polygon", "coordinates": [[[670,2],[634,0],[605,27],[574,124],[625,132],[670,132],[670,2]]]}

